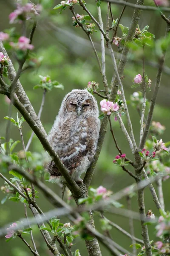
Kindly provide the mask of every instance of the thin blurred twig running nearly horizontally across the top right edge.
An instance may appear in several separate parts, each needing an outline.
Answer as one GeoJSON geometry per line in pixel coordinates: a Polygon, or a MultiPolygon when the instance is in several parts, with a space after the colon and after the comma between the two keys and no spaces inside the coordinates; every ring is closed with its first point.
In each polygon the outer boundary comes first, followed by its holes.
{"type": "MultiPolygon", "coordinates": [[[[126,6],[129,6],[131,8],[138,8],[140,10],[158,11],[158,8],[154,7],[154,6],[142,6],[140,4],[128,3],[128,2],[123,1],[123,0],[105,0],[105,1],[109,2],[109,3],[116,3],[116,4],[119,4],[119,5],[126,5],[126,6]]],[[[164,11],[164,12],[170,12],[169,7],[161,7],[161,10],[164,11]]]]}

